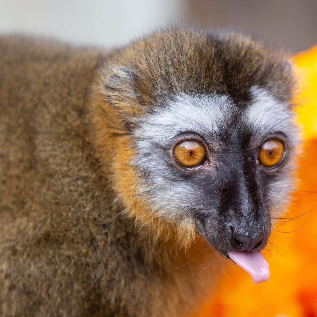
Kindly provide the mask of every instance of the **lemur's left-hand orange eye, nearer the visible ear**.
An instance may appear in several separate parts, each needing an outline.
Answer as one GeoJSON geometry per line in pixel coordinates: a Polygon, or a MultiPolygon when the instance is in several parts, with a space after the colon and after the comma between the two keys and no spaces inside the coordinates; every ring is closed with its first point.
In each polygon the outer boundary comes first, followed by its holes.
{"type": "Polygon", "coordinates": [[[174,148],[174,155],[184,167],[195,167],[204,159],[205,149],[196,141],[185,141],[174,148]]]}

